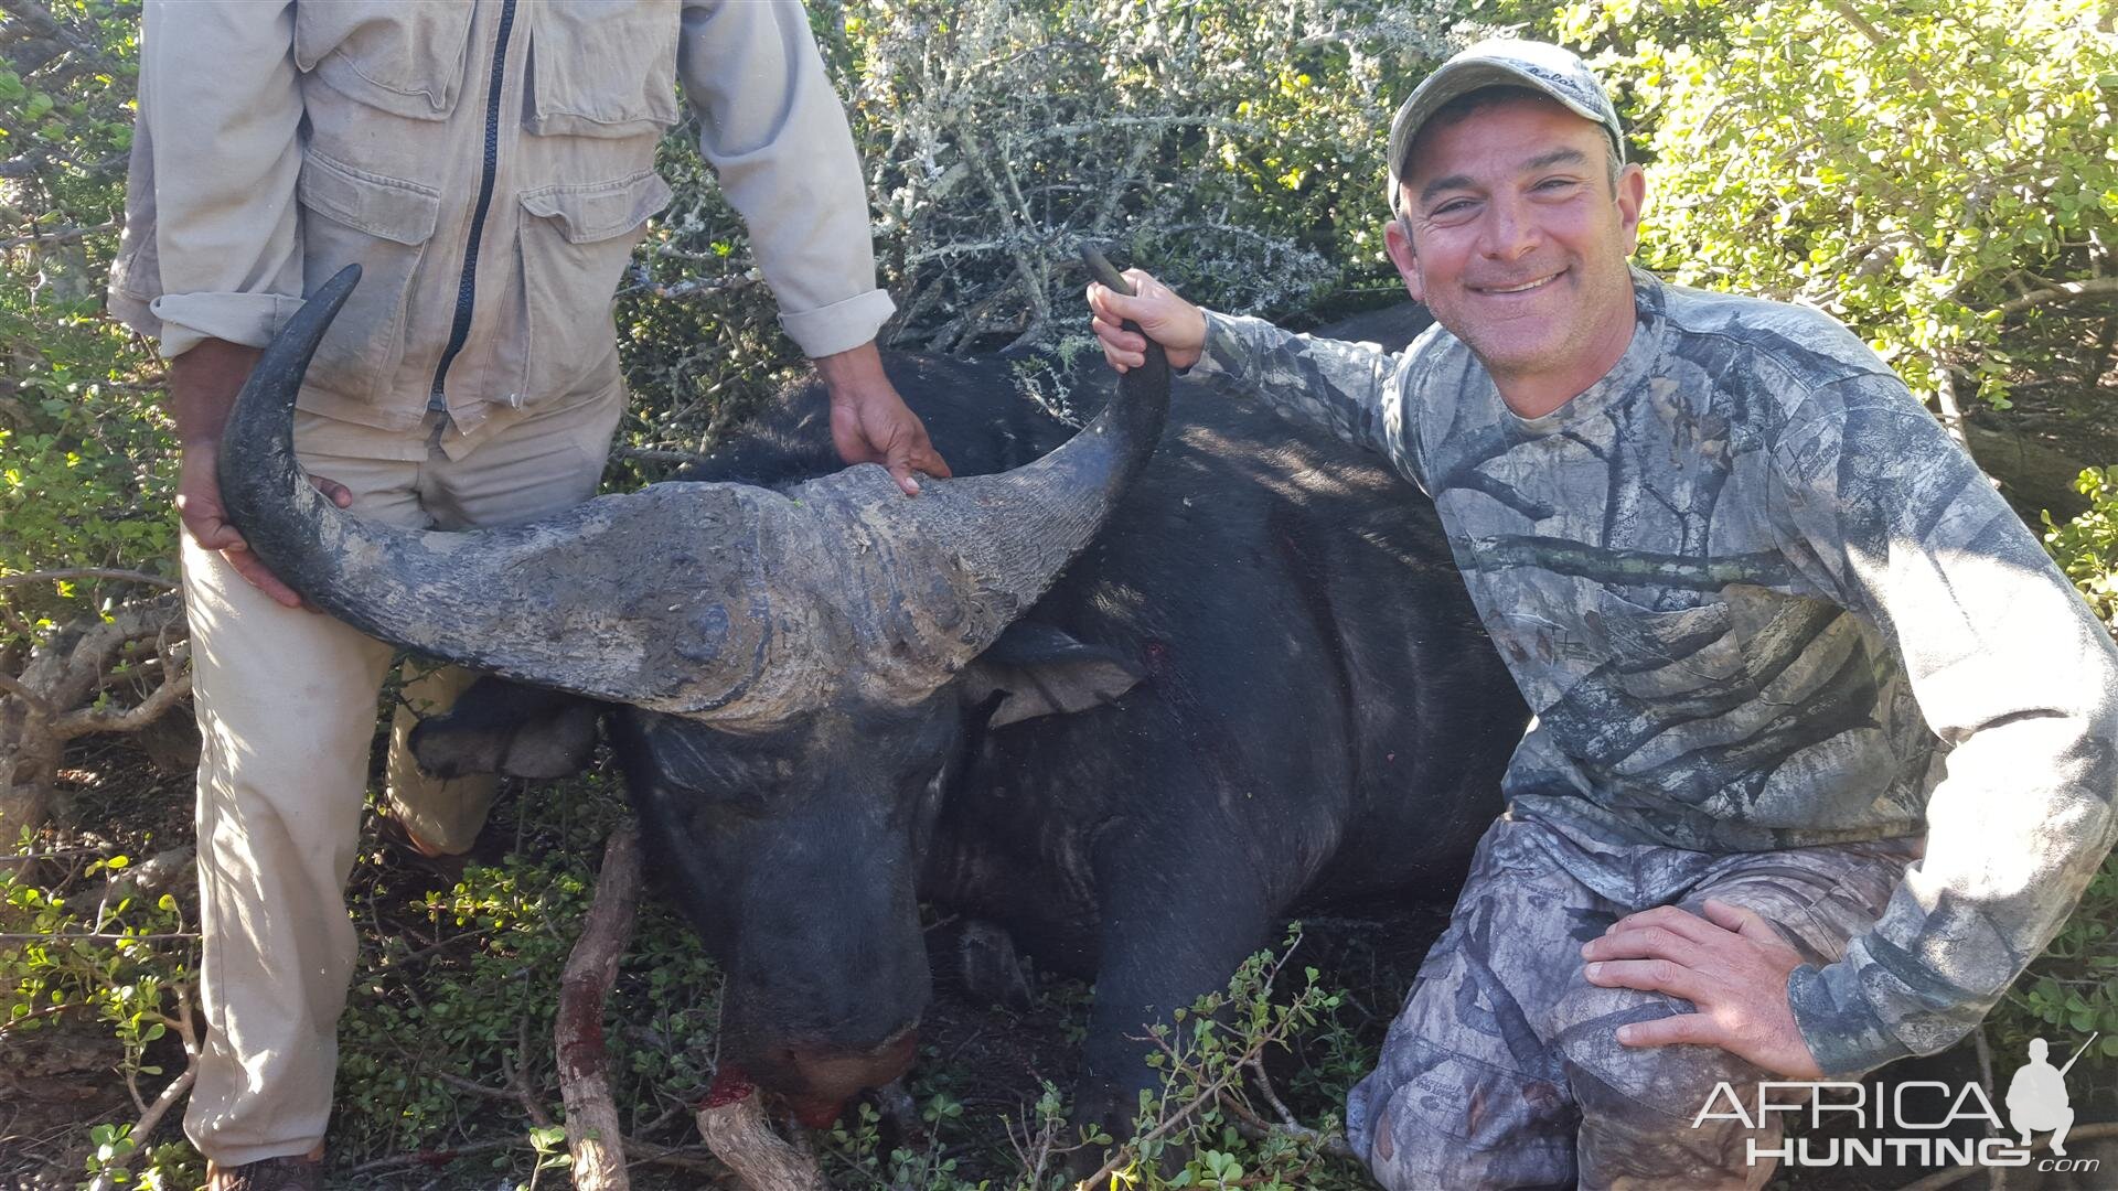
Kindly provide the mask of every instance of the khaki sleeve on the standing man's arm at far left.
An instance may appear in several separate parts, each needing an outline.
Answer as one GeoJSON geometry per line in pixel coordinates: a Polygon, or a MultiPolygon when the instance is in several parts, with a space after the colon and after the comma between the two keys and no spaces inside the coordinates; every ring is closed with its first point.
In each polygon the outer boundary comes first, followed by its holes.
{"type": "Polygon", "coordinates": [[[301,110],[292,4],[148,0],[110,309],[163,356],[301,309],[301,110]]]}

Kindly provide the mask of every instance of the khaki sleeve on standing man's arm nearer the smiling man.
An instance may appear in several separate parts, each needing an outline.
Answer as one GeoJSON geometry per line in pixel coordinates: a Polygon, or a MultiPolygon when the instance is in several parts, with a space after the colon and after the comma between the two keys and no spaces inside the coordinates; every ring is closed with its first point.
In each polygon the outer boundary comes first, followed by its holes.
{"type": "Polygon", "coordinates": [[[699,150],[750,227],[782,326],[809,356],[875,339],[896,305],[875,286],[860,157],[803,6],[684,4],[678,74],[699,110],[699,150]]]}

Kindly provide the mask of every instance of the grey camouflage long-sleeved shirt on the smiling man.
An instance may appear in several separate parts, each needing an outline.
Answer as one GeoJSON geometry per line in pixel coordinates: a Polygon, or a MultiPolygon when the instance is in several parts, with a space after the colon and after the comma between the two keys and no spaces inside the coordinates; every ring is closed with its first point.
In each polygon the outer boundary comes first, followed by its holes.
{"type": "MultiPolygon", "coordinates": [[[[1192,375],[1425,490],[1536,721],[1516,814],[1584,843],[1908,837],[1788,992],[1832,1074],[1970,1030],[2114,841],[2118,648],[1906,386],[1813,309],[1633,278],[1625,358],[1516,417],[1440,326],[1404,354],[1207,316],[1192,375]]],[[[1618,850],[1612,850],[1618,854],[1618,850]]],[[[1574,873],[1616,903],[1622,863],[1574,873]]]]}

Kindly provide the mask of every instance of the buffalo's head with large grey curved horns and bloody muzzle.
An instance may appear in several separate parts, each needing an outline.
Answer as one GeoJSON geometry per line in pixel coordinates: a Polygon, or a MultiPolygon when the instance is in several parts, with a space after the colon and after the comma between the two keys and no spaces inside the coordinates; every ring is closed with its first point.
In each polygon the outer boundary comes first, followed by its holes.
{"type": "Polygon", "coordinates": [[[919,863],[972,733],[1137,678],[1017,617],[1146,466],[1159,350],[1061,447],[917,498],[856,466],[419,532],[339,511],[294,460],[294,394],[356,278],[309,299],[237,401],[222,494],[250,547],[326,612],[513,682],[421,733],[438,771],[553,776],[593,740],[574,697],[614,704],[657,867],[729,975],[724,1062],[811,1117],[902,1072],[928,994],[919,863]]]}

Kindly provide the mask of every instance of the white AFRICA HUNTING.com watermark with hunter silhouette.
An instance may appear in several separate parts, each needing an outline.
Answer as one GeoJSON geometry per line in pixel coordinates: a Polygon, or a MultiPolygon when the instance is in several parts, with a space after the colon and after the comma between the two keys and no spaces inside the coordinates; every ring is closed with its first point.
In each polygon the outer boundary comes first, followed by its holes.
{"type": "Polygon", "coordinates": [[[1783,1166],[2035,1166],[2038,1170],[2088,1172],[2099,1168],[2093,1157],[2067,1157],[2067,1130],[2074,1127],[2074,1106],[2067,1098],[2067,1070],[2090,1043],[2082,1043],[2065,1066],[2052,1066],[2044,1038],[2031,1038],[2029,1062],[2008,1083],[2004,1100],[2008,1119],[1987,1098],[1985,1087],[1966,1083],[1951,1087],[1932,1079],[1904,1083],[1853,1081],[1764,1081],[1743,1100],[1730,1083],[1716,1083],[1692,1127],[1707,1121],[1735,1121],[1745,1130],[1769,1130],[1805,1121],[1809,1130],[1779,1144],[1749,1138],[1747,1161],[1781,1161],[1783,1166]],[[1989,1136],[1961,1134],[1963,1123],[1982,1125],[1989,1136]],[[1864,1136],[1811,1136],[1830,1125],[1851,1125],[1864,1136]],[[2038,1153],[2035,1134],[2050,1134],[2050,1153],[2038,1153]]]}

